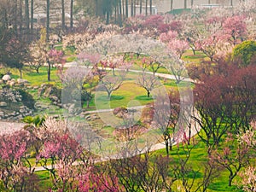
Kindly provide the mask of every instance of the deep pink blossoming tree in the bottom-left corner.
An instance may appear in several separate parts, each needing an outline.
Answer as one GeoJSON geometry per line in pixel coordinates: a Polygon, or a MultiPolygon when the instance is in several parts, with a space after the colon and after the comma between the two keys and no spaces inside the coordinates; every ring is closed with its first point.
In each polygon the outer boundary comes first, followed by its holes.
{"type": "Polygon", "coordinates": [[[34,176],[27,156],[32,143],[29,131],[24,130],[0,137],[0,179],[5,190],[29,190],[36,184],[27,186],[34,176]]]}

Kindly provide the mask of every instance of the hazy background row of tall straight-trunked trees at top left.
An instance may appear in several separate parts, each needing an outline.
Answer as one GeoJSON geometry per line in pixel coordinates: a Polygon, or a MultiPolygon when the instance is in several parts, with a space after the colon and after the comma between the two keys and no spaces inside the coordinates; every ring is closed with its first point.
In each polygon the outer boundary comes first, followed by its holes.
{"type": "MultiPolygon", "coordinates": [[[[0,15],[0,26],[4,29],[13,28],[15,34],[25,36],[26,39],[35,38],[37,34],[34,30],[38,30],[38,26],[35,27],[34,23],[40,23],[42,19],[44,27],[46,28],[47,38],[49,38],[49,30],[51,18],[53,15],[58,15],[61,10],[61,26],[62,31],[67,30],[67,13],[69,14],[69,28],[73,29],[74,15],[79,14],[79,17],[83,15],[89,16],[100,16],[105,18],[106,23],[110,22],[110,19],[114,16],[116,23],[122,23],[122,20],[128,17],[128,12],[131,16],[136,15],[137,1],[122,1],[122,0],[109,0],[109,1],[78,1],[76,4],[73,0],[55,0],[37,2],[34,0],[17,0],[17,1],[3,1],[1,2],[1,15],[0,15]],[[130,5],[131,10],[128,10],[130,5]],[[42,15],[45,15],[42,17],[42,15]]],[[[140,14],[142,14],[143,6],[146,6],[146,15],[152,15],[152,0],[146,1],[145,5],[143,0],[140,0],[140,14]],[[148,4],[150,5],[148,10],[148,4]]]]}

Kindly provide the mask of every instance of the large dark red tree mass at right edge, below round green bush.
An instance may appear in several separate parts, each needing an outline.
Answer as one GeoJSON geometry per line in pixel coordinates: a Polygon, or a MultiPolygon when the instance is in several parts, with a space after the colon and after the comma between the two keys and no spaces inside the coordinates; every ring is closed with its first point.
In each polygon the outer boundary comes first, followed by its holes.
{"type": "Polygon", "coordinates": [[[224,63],[219,64],[218,70],[219,73],[201,78],[194,90],[207,144],[211,138],[218,144],[228,130],[247,130],[256,113],[256,67],[238,68],[224,63]]]}

